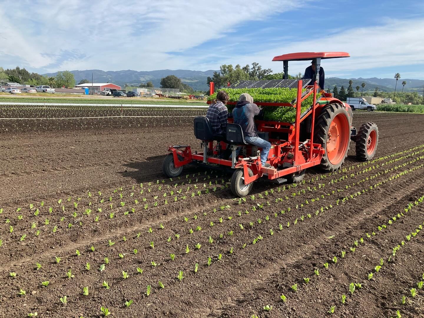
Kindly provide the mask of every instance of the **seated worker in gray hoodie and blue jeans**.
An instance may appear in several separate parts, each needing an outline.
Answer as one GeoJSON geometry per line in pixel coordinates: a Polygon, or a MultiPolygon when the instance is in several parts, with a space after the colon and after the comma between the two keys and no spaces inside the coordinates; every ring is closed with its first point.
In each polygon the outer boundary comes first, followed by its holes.
{"type": "Polygon", "coordinates": [[[271,143],[258,137],[254,116],[259,114],[259,107],[253,103],[253,98],[243,93],[233,109],[234,124],[241,126],[244,140],[254,146],[262,148],[261,162],[264,167],[271,167],[267,163],[268,153],[271,149],[271,143]]]}

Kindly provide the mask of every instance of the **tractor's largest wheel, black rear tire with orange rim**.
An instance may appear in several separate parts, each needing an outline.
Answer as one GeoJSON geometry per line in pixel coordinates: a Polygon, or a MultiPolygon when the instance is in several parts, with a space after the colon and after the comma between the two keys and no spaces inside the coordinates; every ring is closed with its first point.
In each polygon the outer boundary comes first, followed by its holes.
{"type": "Polygon", "coordinates": [[[349,113],[342,104],[330,104],[321,110],[315,124],[314,141],[325,150],[320,165],[323,170],[335,171],[343,164],[349,151],[350,126],[349,113]]]}

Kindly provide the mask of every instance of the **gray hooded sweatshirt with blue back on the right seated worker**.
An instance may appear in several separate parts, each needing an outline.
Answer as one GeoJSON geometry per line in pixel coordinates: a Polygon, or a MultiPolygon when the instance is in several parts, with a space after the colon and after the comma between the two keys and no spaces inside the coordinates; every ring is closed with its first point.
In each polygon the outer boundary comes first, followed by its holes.
{"type": "Polygon", "coordinates": [[[259,107],[253,103],[249,94],[240,95],[233,109],[234,124],[241,126],[244,136],[258,137],[254,116],[259,114],[259,107]]]}

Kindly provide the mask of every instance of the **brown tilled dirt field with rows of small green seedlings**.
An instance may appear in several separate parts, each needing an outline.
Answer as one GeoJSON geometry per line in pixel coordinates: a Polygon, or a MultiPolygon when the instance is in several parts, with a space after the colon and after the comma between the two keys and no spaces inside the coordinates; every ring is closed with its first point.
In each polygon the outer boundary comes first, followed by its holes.
{"type": "Polygon", "coordinates": [[[196,112],[0,120],[0,318],[424,317],[424,115],[355,112],[373,161],[352,142],[343,170],[243,201],[230,175],[162,175],[196,112]]]}

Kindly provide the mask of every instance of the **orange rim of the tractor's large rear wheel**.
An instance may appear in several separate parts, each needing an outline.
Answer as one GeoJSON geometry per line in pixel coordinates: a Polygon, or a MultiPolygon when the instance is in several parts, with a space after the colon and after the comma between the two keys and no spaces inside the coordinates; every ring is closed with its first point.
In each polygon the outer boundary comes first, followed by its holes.
{"type": "Polygon", "coordinates": [[[337,114],[328,129],[327,158],[332,165],[338,165],[345,156],[349,145],[349,122],[343,114],[337,114]]]}

